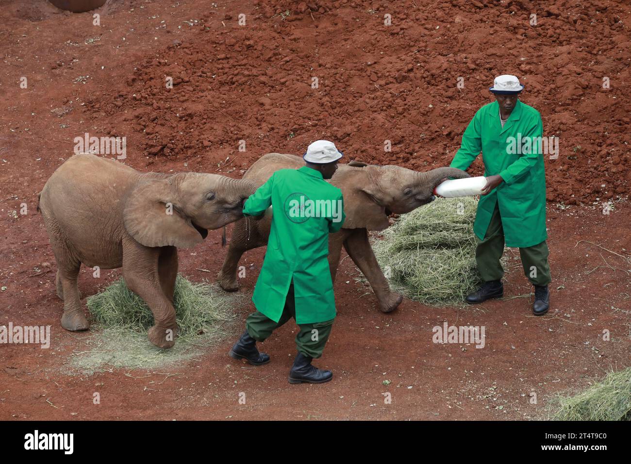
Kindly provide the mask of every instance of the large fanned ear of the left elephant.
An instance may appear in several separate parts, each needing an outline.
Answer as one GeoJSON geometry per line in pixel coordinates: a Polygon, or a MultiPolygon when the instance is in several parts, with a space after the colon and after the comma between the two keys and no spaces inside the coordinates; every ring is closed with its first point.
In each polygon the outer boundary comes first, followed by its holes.
{"type": "Polygon", "coordinates": [[[189,248],[204,241],[203,232],[177,206],[174,177],[142,179],[124,200],[127,233],[144,246],[189,248]]]}

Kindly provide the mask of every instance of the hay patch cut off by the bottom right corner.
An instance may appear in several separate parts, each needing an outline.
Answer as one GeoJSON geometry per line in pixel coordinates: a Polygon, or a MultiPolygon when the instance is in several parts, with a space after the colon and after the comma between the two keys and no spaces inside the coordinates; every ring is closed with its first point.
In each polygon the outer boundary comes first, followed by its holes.
{"type": "Polygon", "coordinates": [[[631,367],[610,372],[574,396],[550,402],[552,420],[631,420],[631,367]]]}

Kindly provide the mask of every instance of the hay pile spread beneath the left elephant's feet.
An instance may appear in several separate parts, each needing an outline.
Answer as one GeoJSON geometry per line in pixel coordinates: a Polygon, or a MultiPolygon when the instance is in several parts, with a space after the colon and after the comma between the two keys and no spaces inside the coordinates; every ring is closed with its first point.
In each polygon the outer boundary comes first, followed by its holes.
{"type": "Polygon", "coordinates": [[[180,364],[227,335],[235,309],[244,302],[244,294],[228,294],[216,285],[192,283],[178,275],[174,307],[180,333],[175,346],[163,350],[147,339],[147,330],[153,325],[151,310],[121,278],[88,298],[93,325],[86,346],[74,351],[70,371],[91,374],[121,367],[155,369],[180,364]]]}

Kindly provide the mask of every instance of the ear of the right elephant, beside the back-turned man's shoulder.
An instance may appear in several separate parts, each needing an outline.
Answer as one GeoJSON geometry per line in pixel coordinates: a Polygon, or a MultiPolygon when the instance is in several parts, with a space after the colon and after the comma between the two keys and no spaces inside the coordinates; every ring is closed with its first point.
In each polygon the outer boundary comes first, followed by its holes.
{"type": "Polygon", "coordinates": [[[385,206],[374,199],[369,167],[343,167],[331,179],[344,196],[344,229],[384,230],[389,226],[385,206]]]}

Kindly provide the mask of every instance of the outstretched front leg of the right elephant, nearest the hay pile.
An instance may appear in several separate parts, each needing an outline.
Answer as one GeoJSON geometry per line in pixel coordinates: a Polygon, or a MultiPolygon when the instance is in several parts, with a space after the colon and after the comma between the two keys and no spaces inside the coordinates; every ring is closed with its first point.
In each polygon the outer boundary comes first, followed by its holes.
{"type": "Polygon", "coordinates": [[[380,311],[394,311],[403,301],[403,296],[391,292],[390,285],[381,271],[379,263],[377,263],[377,258],[372,253],[368,231],[366,229],[353,229],[353,232],[344,242],[344,247],[346,248],[346,253],[349,254],[357,267],[360,268],[360,271],[363,272],[363,275],[368,279],[370,287],[372,287],[379,301],[380,311]]]}

